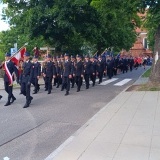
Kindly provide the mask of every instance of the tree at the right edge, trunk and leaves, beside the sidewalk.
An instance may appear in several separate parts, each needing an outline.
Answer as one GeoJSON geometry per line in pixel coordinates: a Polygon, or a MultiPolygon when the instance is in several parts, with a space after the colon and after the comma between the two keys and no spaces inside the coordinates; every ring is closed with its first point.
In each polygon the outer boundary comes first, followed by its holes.
{"type": "Polygon", "coordinates": [[[154,46],[154,61],[150,81],[152,83],[160,82],[160,1],[142,0],[141,8],[147,9],[147,19],[145,27],[149,30],[149,39],[151,46],[154,46]],[[158,57],[157,57],[158,56],[158,57]],[[158,58],[158,59],[157,59],[158,58]]]}

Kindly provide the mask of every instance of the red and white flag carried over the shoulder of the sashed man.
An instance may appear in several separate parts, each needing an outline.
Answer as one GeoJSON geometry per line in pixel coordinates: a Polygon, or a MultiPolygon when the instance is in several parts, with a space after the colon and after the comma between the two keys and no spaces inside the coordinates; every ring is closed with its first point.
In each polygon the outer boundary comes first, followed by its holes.
{"type": "Polygon", "coordinates": [[[19,61],[23,60],[24,58],[24,53],[26,52],[26,47],[21,48],[17,53],[15,53],[12,58],[11,61],[18,66],[19,65],[19,61]]]}

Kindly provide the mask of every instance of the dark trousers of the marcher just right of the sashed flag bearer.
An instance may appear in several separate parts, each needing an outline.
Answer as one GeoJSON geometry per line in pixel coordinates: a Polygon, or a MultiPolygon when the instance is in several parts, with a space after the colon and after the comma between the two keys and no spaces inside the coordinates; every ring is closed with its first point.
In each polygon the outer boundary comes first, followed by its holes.
{"type": "Polygon", "coordinates": [[[31,92],[31,84],[28,84],[28,81],[27,82],[22,81],[22,83],[21,83],[21,93],[24,96],[26,96],[26,101],[27,102],[29,102],[29,100],[31,98],[30,92],[31,92]]]}

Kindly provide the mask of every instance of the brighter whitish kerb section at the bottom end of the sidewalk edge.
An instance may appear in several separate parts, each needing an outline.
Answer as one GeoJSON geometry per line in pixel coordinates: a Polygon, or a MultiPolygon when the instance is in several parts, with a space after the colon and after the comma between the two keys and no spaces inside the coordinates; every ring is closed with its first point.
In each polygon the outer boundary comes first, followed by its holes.
{"type": "Polygon", "coordinates": [[[53,160],[58,153],[60,153],[68,144],[70,144],[75,137],[69,137],[63,144],[61,144],[54,152],[52,152],[45,160],[53,160]]]}

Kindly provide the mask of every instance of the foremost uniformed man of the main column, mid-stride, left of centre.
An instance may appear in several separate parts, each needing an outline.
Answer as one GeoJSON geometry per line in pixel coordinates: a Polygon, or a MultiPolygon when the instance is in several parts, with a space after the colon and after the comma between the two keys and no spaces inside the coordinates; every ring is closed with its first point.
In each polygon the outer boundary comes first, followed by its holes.
{"type": "Polygon", "coordinates": [[[64,56],[64,62],[63,62],[63,70],[62,70],[62,89],[66,89],[66,94],[65,96],[69,95],[69,90],[70,90],[70,79],[72,78],[72,64],[69,61],[69,55],[66,53],[64,56]]]}

